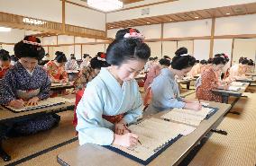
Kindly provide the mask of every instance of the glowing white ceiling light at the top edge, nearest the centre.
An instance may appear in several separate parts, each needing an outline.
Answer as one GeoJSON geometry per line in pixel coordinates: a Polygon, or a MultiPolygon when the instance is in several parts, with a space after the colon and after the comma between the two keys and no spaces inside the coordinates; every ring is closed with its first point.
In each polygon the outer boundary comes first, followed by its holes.
{"type": "Polygon", "coordinates": [[[119,0],[87,0],[87,4],[104,12],[114,11],[123,7],[123,2],[119,0]]]}

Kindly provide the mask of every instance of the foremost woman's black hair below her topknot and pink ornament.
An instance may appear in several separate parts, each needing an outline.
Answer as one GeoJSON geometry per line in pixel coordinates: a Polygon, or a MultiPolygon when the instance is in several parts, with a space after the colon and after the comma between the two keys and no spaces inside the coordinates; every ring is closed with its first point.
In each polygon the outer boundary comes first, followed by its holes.
{"type": "Polygon", "coordinates": [[[114,39],[106,49],[106,62],[120,66],[125,60],[142,59],[147,61],[151,57],[151,48],[142,39],[114,39]]]}

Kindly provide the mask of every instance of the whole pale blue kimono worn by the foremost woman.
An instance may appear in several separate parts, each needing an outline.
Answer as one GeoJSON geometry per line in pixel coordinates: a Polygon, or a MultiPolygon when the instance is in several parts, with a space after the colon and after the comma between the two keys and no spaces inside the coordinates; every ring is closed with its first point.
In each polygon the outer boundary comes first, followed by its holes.
{"type": "Polygon", "coordinates": [[[128,124],[142,116],[142,97],[138,84],[133,79],[123,82],[121,87],[107,68],[102,68],[87,83],[86,91],[78,103],[79,144],[112,144],[114,124],[102,118],[102,115],[115,116],[123,113],[123,119],[128,124]]]}

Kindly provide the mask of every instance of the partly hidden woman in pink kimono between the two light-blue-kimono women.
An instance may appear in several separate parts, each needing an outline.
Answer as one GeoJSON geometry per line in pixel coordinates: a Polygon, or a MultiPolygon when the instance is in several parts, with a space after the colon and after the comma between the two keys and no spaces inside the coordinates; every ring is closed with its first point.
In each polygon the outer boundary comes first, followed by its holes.
{"type": "Polygon", "coordinates": [[[147,79],[144,83],[144,91],[146,92],[148,87],[153,82],[153,79],[160,74],[160,70],[163,68],[168,68],[170,66],[169,59],[161,58],[158,64],[151,66],[149,73],[147,74],[147,79]]]}

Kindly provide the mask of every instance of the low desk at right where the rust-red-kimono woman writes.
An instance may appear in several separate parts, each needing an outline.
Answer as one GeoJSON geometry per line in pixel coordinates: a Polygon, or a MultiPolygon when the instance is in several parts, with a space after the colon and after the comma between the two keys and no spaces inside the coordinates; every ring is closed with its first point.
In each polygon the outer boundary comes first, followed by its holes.
{"type": "Polygon", "coordinates": [[[220,90],[220,89],[212,90],[212,92],[220,94],[222,96],[222,102],[227,104],[228,98],[230,96],[240,98],[242,96],[242,93],[245,92],[245,90],[248,86],[249,86],[249,83],[244,83],[243,86],[240,86],[240,90],[238,92],[228,91],[228,90],[220,90]]]}

